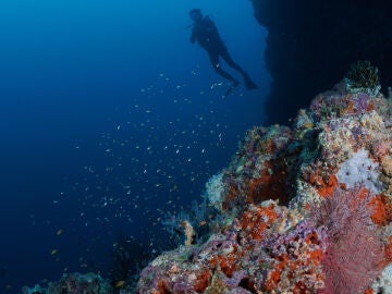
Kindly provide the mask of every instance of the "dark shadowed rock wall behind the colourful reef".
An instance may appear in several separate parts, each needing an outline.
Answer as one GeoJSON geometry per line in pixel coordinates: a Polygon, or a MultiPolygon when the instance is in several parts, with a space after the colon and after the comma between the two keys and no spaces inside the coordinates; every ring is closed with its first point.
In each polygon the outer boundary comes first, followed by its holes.
{"type": "Polygon", "coordinates": [[[379,69],[383,93],[392,86],[391,1],[252,1],[269,30],[266,62],[273,82],[267,123],[287,124],[358,60],[379,69]]]}

